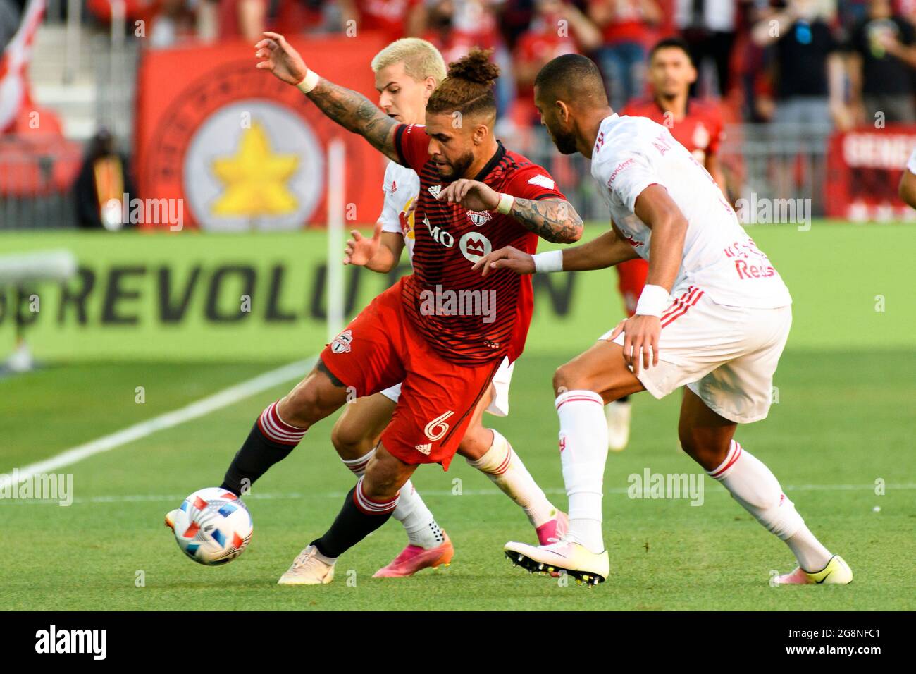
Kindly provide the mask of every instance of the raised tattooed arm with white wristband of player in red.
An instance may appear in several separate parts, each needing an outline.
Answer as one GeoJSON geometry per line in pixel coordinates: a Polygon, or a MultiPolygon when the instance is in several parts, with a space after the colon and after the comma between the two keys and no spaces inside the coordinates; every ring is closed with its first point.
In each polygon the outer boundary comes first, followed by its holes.
{"type": "Polygon", "coordinates": [[[398,122],[379,110],[363,94],[328,82],[311,72],[300,53],[279,33],[265,31],[264,35],[266,38],[255,45],[255,55],[262,60],[257,62],[257,68],[273,72],[285,83],[301,85],[300,89],[326,116],[347,131],[358,133],[389,159],[398,160],[398,150],[395,149],[398,122]]]}

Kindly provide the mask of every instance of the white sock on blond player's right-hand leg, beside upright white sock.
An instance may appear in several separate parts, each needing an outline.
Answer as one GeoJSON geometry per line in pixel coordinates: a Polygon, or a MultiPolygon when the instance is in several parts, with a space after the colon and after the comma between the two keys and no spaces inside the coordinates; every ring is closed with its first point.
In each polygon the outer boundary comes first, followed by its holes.
{"type": "Polygon", "coordinates": [[[531,525],[538,527],[557,516],[557,509],[531,477],[521,458],[499,431],[493,431],[493,444],[480,459],[467,462],[485,473],[499,489],[525,511],[531,525]]]}

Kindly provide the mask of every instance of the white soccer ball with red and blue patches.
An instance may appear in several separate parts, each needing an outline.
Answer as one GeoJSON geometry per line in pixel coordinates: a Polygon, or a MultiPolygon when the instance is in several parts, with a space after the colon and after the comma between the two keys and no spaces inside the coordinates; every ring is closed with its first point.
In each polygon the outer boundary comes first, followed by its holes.
{"type": "Polygon", "coordinates": [[[178,547],[207,566],[226,564],[245,550],[254,525],[242,499],[219,487],[198,490],[166,516],[178,547]]]}

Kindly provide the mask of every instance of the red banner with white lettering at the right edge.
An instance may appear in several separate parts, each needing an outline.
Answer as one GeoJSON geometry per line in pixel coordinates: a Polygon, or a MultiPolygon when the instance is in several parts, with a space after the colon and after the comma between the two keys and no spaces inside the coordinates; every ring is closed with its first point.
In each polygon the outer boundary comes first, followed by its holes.
{"type": "Polygon", "coordinates": [[[911,219],[900,176],[916,149],[916,127],[890,125],[834,133],[827,150],[826,215],[856,222],[911,219]]]}

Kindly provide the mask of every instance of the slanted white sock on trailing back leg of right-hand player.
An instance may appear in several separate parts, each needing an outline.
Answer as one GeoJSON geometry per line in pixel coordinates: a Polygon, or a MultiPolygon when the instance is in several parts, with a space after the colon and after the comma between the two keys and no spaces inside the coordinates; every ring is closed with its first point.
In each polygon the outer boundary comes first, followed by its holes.
{"type": "Polygon", "coordinates": [[[804,524],[780,481],[762,461],[732,440],[725,460],[707,473],[722,482],[738,503],[771,534],[779,536],[808,571],[823,569],[832,555],[804,524]]]}

